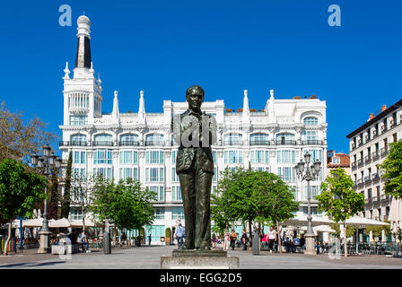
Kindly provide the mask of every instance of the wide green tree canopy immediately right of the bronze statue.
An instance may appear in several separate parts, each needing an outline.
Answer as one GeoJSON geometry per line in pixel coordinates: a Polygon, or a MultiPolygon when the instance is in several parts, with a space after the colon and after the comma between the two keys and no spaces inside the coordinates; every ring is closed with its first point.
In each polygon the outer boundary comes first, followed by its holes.
{"type": "Polygon", "coordinates": [[[235,221],[284,222],[297,209],[293,190],[281,178],[241,167],[223,170],[211,201],[212,220],[220,231],[235,221]]]}

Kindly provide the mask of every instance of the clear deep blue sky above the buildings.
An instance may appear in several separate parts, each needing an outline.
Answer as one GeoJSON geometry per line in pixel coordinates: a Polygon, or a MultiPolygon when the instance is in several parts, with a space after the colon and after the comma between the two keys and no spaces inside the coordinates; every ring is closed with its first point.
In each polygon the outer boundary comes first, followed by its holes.
{"type": "MultiPolygon", "coordinates": [[[[73,70],[76,19],[92,21],[92,61],[103,112],[118,90],[120,112],[162,112],[200,84],[205,100],[264,109],[275,98],[316,94],[327,101],[328,149],[348,152],[345,135],[402,96],[402,4],[394,0],[7,1],[0,9],[0,100],[36,114],[61,136],[63,69],[73,70]],[[61,27],[61,4],[73,25],[61,27]],[[341,27],[328,25],[328,6],[341,27]]],[[[57,147],[57,144],[54,145],[57,147]]]]}

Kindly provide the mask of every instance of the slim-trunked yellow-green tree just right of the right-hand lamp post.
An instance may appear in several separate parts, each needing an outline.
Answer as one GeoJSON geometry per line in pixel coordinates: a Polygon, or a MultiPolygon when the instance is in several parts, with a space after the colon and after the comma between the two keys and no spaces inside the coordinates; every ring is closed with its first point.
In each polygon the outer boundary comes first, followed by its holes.
{"type": "MultiPolygon", "coordinates": [[[[345,170],[331,170],[328,177],[321,183],[321,194],[315,198],[319,201],[319,211],[323,211],[334,222],[342,222],[346,229],[346,219],[355,213],[363,211],[364,195],[354,191],[354,182],[345,170]]],[[[347,237],[344,238],[345,246],[347,237]]],[[[345,248],[347,257],[347,248],[345,248]]]]}

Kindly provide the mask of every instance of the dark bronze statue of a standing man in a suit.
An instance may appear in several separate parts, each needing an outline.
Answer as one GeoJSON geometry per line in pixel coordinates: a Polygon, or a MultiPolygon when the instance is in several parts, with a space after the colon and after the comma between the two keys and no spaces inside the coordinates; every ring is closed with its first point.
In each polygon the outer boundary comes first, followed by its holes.
{"type": "Polygon", "coordinates": [[[173,118],[173,136],[179,144],[176,172],[179,175],[186,224],[184,249],[211,247],[210,196],[214,176],[211,144],[216,141],[214,117],[201,112],[204,90],[186,91],[188,109],[173,118]]]}

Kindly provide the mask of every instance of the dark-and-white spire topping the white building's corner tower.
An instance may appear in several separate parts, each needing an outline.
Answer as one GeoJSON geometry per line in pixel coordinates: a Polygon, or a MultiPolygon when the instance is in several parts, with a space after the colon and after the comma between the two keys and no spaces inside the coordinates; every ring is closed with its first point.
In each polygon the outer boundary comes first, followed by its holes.
{"type": "Polygon", "coordinates": [[[90,69],[92,63],[90,46],[91,20],[87,16],[82,15],[78,17],[77,25],[78,45],[75,57],[75,67],[90,69]]]}

